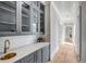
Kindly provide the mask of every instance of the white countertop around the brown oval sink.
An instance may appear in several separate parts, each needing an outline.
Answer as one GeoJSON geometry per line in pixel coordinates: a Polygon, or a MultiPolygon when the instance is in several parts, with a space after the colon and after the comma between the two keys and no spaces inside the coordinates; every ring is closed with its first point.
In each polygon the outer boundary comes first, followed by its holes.
{"type": "MultiPolygon", "coordinates": [[[[24,47],[13,49],[9,52],[15,52],[16,56],[14,56],[10,60],[4,60],[4,61],[0,60],[0,63],[13,63],[13,62],[26,56],[27,54],[30,54],[30,53],[48,46],[48,44],[49,44],[49,42],[38,42],[38,43],[32,43],[32,44],[28,44],[28,46],[24,46],[24,47]]],[[[4,54],[2,54],[2,55],[4,55],[4,54]]]]}

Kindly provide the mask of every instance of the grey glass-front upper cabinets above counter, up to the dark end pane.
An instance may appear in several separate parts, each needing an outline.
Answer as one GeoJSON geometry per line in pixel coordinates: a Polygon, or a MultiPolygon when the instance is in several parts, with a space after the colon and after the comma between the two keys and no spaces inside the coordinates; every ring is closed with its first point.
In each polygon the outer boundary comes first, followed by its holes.
{"type": "Polygon", "coordinates": [[[0,35],[39,34],[40,5],[39,1],[0,1],[0,35]]]}

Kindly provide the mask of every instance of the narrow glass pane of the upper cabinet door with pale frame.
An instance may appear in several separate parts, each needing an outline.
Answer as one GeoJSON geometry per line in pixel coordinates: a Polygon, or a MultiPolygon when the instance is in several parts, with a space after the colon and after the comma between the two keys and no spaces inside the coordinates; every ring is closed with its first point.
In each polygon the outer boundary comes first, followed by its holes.
{"type": "Polygon", "coordinates": [[[22,4],[22,33],[30,31],[30,8],[27,3],[22,4]]]}

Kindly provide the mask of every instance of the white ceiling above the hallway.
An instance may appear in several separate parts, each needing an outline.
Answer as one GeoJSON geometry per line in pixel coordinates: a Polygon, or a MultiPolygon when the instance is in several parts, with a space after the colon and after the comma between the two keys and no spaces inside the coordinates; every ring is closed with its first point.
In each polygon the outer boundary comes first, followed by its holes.
{"type": "Polygon", "coordinates": [[[76,16],[78,15],[77,1],[56,1],[53,3],[61,17],[61,23],[73,23],[76,20],[76,16]]]}

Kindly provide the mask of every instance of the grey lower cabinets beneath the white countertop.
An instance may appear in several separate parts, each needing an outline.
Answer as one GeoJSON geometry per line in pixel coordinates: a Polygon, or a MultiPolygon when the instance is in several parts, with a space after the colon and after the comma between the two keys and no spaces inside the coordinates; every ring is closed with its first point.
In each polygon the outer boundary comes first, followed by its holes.
{"type": "Polygon", "coordinates": [[[46,63],[50,60],[49,49],[49,46],[46,46],[42,49],[39,49],[36,52],[24,56],[15,63],[46,63]]]}

